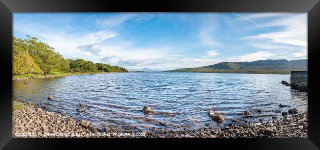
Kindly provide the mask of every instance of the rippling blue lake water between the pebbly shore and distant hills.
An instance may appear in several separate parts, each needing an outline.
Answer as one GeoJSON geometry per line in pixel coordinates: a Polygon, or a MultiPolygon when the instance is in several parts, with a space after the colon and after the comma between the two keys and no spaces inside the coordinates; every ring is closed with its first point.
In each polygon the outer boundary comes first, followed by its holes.
{"type": "MultiPolygon", "coordinates": [[[[290,75],[214,73],[115,73],[30,79],[13,84],[13,99],[46,103],[48,111],[129,130],[152,127],[173,130],[228,125],[231,120],[260,122],[282,117],[277,110],[307,111],[307,92],[290,89],[281,81],[290,75]],[[54,100],[47,100],[53,95],[54,100]],[[85,112],[77,112],[79,104],[85,112]],[[280,108],[279,104],[289,107],[280,108]],[[153,109],[144,114],[144,105],[153,109]],[[262,112],[257,112],[262,109],[262,112]],[[215,123],[208,111],[224,113],[215,123]],[[255,118],[243,118],[248,110],[255,118]],[[159,125],[166,122],[168,125],[159,125]]],[[[232,123],[234,124],[234,123],[232,123]]]]}

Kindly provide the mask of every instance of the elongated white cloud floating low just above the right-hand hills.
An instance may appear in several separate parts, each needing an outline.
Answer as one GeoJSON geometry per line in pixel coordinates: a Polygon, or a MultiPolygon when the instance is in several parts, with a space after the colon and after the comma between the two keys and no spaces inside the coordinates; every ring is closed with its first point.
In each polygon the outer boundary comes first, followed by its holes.
{"type": "Polygon", "coordinates": [[[249,53],[241,56],[227,58],[229,61],[256,61],[256,60],[264,60],[268,59],[271,56],[274,56],[274,53],[268,51],[258,51],[254,53],[249,53]]]}

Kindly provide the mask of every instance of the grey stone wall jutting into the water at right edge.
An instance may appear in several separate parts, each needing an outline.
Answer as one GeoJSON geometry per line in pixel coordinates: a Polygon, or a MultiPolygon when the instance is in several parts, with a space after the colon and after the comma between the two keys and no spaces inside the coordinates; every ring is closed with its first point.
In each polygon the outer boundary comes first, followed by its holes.
{"type": "Polygon", "coordinates": [[[291,71],[290,81],[293,86],[308,87],[308,71],[291,71]]]}

